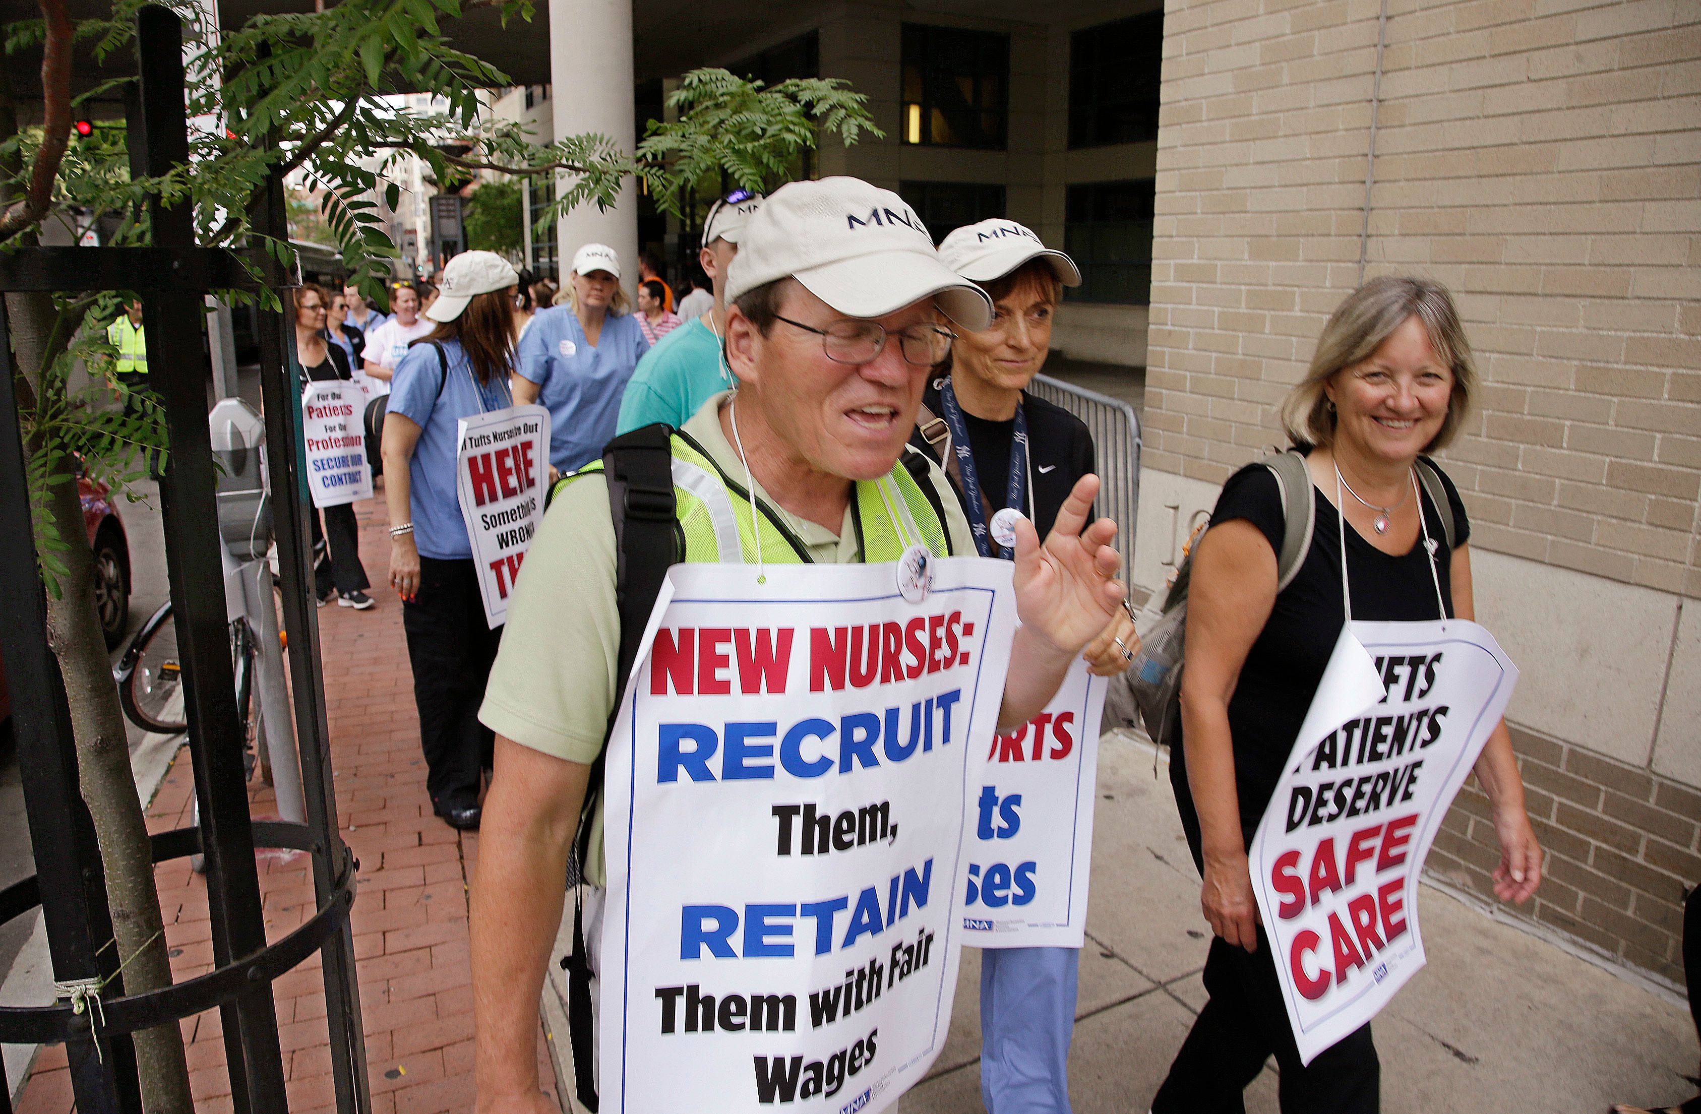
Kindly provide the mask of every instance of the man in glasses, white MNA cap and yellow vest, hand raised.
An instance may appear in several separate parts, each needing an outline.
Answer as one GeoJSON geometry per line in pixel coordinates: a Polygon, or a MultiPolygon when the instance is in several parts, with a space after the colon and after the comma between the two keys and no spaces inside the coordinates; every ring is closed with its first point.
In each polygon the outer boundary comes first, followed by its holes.
{"type": "MultiPolygon", "coordinates": [[[[726,299],[726,359],[738,391],[713,396],[679,434],[651,425],[617,439],[602,468],[563,481],[510,602],[480,711],[497,731],[471,900],[483,1114],[555,1111],[538,1088],[538,998],[561,925],[580,806],[587,789],[597,791],[592,776],[621,699],[621,672],[636,653],[633,628],[641,634],[660,585],[657,573],[645,599],[633,566],[723,560],[716,532],[692,517],[709,514],[694,493],[703,485],[672,486],[668,458],[723,486],[716,505],[740,522],[747,563],[755,558],[745,527],[760,531],[767,563],[895,561],[898,551],[881,537],[903,536],[896,522],[864,534],[871,509],[881,505],[864,485],[876,483],[898,485],[903,502],[922,509],[913,524],[932,553],[973,553],[947,481],[905,439],[929,369],[949,349],[946,320],[983,328],[990,306],[980,287],[939,262],[913,209],[857,179],[786,185],[745,230],[726,299]],[[650,486],[645,468],[653,463],[640,466],[640,452],[662,456],[665,492],[650,486]],[[663,510],[668,500],[672,514],[663,510]],[[663,524],[667,553],[631,544],[645,520],[663,524]]],[[[1000,725],[1026,723],[1044,708],[1123,599],[1107,544],[1116,527],[1085,524],[1095,492],[1095,478],[1077,486],[1043,546],[1031,526],[1017,527],[1022,626],[1012,658],[1024,668],[1005,682],[1000,725]]],[[[600,798],[592,799],[578,845],[585,879],[599,886],[602,810],[600,798]]],[[[585,908],[594,973],[600,901],[587,900],[585,908]]]]}

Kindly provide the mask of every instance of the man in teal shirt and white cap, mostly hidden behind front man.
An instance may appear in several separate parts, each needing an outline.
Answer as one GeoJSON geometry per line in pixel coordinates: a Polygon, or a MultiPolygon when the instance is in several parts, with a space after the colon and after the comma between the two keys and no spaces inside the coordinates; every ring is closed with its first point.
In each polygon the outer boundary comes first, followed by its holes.
{"type": "Polygon", "coordinates": [[[679,429],[711,395],[738,386],[721,357],[721,337],[726,332],[726,269],[738,255],[738,238],[759,207],[762,194],[742,189],[709,207],[709,216],[703,221],[703,250],[697,252],[697,260],[714,286],[714,304],[703,316],[687,320],[684,327],[663,337],[638,361],[638,371],[633,372],[621,400],[619,432],[651,422],[667,422],[679,429]]]}

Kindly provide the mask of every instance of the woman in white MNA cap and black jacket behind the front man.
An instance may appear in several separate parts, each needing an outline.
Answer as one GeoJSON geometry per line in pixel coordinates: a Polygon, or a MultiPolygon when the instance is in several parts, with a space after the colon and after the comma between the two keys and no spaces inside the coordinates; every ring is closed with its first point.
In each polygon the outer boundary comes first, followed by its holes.
{"type": "MultiPolygon", "coordinates": [[[[1051,532],[1075,481],[1094,469],[1092,434],[1070,412],[1026,391],[1051,350],[1051,320],[1080,272],[1015,221],[958,228],[939,259],[981,286],[992,325],[963,332],[922,396],[912,444],[946,469],[981,556],[1014,560],[993,517],[1014,509],[1039,537],[1051,532]],[[968,446],[961,454],[958,447],[968,446]]],[[[1111,677],[1140,650],[1133,616],[1087,646],[1089,668],[1111,677]]],[[[1090,725],[1089,730],[1097,730],[1090,725]]],[[[993,1114],[1067,1114],[1078,947],[985,947],[980,954],[980,1090],[993,1114]]]]}

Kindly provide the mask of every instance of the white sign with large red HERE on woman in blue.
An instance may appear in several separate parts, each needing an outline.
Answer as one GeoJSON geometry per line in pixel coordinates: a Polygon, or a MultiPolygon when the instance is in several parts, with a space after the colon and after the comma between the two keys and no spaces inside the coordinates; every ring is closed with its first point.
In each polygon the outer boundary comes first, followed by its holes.
{"type": "Polygon", "coordinates": [[[473,546],[485,622],[497,629],[509,617],[509,594],[521,561],[543,520],[549,476],[549,412],[505,406],[461,418],[454,461],[461,520],[473,546]]]}

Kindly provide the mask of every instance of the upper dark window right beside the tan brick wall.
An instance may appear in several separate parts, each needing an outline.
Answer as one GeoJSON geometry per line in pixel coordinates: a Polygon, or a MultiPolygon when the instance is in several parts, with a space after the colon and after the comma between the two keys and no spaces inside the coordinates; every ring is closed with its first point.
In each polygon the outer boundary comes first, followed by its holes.
{"type": "Polygon", "coordinates": [[[1077,31],[1068,54],[1068,145],[1158,138],[1163,12],[1077,31]]]}

